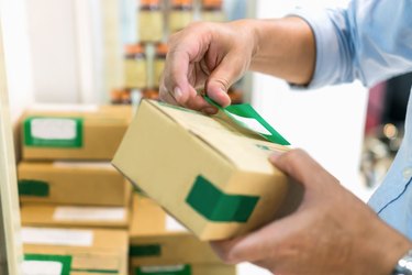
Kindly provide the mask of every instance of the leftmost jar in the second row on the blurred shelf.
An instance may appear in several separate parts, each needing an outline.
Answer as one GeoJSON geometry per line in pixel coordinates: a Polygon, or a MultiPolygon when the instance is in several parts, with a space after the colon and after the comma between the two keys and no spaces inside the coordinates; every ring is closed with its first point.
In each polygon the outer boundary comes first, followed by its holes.
{"type": "Polygon", "coordinates": [[[144,47],[127,45],[124,56],[124,86],[129,89],[147,87],[147,61],[144,47]]]}

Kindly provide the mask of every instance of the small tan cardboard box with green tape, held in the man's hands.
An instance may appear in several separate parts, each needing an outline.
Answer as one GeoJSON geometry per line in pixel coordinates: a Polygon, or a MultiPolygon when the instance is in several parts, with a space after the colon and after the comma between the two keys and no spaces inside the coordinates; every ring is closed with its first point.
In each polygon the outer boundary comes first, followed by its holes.
{"type": "Polygon", "coordinates": [[[144,100],[112,163],[201,240],[220,240],[297,208],[301,187],[268,161],[287,150],[222,111],[144,100]]]}

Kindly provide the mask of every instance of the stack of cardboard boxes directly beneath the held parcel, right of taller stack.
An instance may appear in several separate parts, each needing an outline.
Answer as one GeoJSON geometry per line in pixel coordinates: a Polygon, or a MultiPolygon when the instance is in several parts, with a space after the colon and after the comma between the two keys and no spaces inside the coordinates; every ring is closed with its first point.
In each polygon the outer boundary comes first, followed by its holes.
{"type": "Polygon", "coordinates": [[[133,275],[235,275],[208,242],[201,242],[153,200],[134,197],[130,229],[133,275]]]}

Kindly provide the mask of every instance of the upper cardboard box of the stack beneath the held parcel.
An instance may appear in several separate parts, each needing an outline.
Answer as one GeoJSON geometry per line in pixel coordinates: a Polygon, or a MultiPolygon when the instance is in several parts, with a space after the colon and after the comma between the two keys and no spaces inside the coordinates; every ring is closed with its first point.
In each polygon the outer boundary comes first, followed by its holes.
{"type": "Polygon", "coordinates": [[[199,241],[157,204],[135,195],[130,229],[131,265],[222,264],[209,242],[199,241]]]}

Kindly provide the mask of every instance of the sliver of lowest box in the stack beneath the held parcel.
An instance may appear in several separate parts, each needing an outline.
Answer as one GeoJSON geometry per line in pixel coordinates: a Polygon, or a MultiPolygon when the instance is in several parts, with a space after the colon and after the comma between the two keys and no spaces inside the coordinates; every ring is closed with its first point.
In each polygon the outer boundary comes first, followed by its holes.
{"type": "Polygon", "coordinates": [[[223,264],[179,264],[132,267],[131,275],[236,275],[236,267],[223,264]]]}

